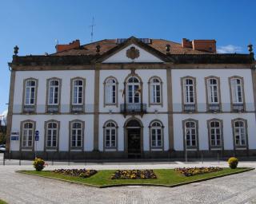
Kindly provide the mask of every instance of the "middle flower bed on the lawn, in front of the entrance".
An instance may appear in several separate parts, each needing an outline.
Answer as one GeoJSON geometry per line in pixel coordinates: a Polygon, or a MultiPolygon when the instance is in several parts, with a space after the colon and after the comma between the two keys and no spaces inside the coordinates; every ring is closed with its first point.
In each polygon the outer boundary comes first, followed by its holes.
{"type": "Polygon", "coordinates": [[[111,179],[157,179],[153,170],[118,170],[111,179]]]}

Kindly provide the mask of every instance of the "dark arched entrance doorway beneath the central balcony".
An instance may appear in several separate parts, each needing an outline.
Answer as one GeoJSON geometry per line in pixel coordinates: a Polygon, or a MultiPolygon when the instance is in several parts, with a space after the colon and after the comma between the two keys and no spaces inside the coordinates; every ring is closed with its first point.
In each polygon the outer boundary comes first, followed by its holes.
{"type": "Polygon", "coordinates": [[[125,124],[126,155],[128,158],[141,158],[143,152],[143,126],[141,121],[130,119],[125,124]]]}

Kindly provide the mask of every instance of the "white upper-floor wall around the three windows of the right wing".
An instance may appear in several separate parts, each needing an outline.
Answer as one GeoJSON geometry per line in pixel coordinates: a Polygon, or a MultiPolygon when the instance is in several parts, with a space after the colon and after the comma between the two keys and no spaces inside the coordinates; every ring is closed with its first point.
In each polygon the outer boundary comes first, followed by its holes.
{"type": "Polygon", "coordinates": [[[182,77],[195,77],[198,111],[206,111],[206,86],[205,77],[215,76],[220,77],[220,90],[222,99],[222,111],[230,111],[230,86],[229,77],[243,77],[246,110],[254,111],[254,92],[252,87],[252,77],[250,69],[173,69],[171,71],[172,89],[173,89],[173,104],[174,112],[182,111],[182,77]]]}

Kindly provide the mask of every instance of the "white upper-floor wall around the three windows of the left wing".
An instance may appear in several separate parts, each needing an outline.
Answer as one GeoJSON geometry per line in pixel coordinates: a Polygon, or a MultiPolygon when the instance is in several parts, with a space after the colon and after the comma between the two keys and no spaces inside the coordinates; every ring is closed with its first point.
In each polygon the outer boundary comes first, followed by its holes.
{"type": "Polygon", "coordinates": [[[33,77],[38,79],[37,111],[45,112],[46,81],[52,77],[62,79],[61,112],[70,112],[70,80],[74,77],[86,79],[86,112],[94,111],[94,71],[66,70],[66,71],[18,71],[14,87],[14,113],[22,112],[23,80],[33,77]]]}

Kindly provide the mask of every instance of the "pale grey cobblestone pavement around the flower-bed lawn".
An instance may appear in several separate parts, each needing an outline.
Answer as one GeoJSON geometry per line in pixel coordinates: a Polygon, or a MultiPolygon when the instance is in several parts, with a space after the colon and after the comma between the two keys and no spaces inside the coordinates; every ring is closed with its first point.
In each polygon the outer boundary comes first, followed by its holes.
{"type": "MultiPolygon", "coordinates": [[[[204,163],[205,166],[222,166],[226,163],[204,163]]],[[[240,163],[256,166],[255,162],[240,163]]],[[[148,163],[148,164],[90,164],[95,169],[162,168],[202,166],[202,163],[148,163]]],[[[66,166],[78,167],[78,166],[66,166]]],[[[79,166],[79,167],[82,167],[79,166]]],[[[58,168],[50,166],[47,169],[58,168]]],[[[156,186],[124,186],[98,189],[53,179],[15,173],[31,166],[0,166],[0,198],[9,203],[256,203],[256,171],[230,175],[206,182],[197,182],[175,188],[156,186]]]]}

